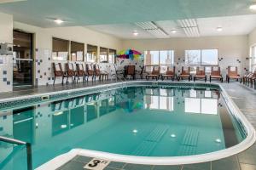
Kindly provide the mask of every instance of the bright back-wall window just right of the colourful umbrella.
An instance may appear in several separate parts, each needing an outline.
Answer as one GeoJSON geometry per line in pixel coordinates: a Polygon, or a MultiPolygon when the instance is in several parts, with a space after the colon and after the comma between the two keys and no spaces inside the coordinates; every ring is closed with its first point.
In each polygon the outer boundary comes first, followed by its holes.
{"type": "Polygon", "coordinates": [[[145,51],[144,52],[145,65],[173,65],[174,64],[174,51],[145,51]]]}

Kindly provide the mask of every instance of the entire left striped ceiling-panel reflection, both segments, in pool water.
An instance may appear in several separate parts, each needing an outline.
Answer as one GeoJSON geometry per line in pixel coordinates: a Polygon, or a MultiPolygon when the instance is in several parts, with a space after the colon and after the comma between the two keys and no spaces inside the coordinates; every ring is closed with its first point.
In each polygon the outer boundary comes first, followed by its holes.
{"type": "Polygon", "coordinates": [[[154,127],[152,132],[149,133],[148,137],[143,141],[143,143],[139,144],[136,150],[133,151],[133,155],[149,156],[151,151],[154,150],[156,144],[164,136],[168,128],[169,126],[167,125],[158,125],[154,127]]]}

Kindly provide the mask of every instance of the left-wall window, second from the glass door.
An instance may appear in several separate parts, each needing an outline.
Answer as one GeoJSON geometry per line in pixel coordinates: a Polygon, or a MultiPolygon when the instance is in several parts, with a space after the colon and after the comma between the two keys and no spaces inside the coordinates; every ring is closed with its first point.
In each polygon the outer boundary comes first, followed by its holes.
{"type": "Polygon", "coordinates": [[[71,60],[83,61],[84,60],[84,43],[71,42],[71,60]]]}

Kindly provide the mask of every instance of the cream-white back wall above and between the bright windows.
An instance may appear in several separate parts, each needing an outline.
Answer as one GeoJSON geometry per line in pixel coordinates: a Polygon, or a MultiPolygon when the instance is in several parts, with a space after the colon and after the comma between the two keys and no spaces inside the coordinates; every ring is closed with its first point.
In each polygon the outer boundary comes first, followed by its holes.
{"type": "Polygon", "coordinates": [[[244,73],[244,68],[248,68],[247,36],[125,40],[123,48],[135,48],[141,52],[172,49],[176,65],[184,65],[186,49],[217,48],[219,65],[223,73],[226,72],[228,65],[238,66],[241,74],[244,73]]]}

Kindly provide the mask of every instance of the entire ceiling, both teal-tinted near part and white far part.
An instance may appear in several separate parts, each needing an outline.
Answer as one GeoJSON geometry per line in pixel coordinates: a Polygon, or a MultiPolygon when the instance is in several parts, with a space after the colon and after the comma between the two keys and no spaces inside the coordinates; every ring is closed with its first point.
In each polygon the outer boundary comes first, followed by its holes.
{"type": "Polygon", "coordinates": [[[0,0],[0,11],[33,26],[86,26],[116,37],[245,35],[256,26],[253,0],[0,0]],[[65,22],[57,25],[54,20],[65,22]],[[152,27],[144,27],[152,25],[152,27]],[[221,26],[223,31],[216,31],[221,26]],[[177,32],[172,33],[173,30],[177,32]],[[139,34],[132,35],[133,31],[139,34]]]}

